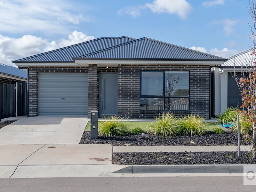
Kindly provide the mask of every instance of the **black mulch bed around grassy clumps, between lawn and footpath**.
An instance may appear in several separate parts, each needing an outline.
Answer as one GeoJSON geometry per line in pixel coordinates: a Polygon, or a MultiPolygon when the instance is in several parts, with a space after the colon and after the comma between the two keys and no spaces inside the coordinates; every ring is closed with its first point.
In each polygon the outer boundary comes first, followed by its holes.
{"type": "MultiPolygon", "coordinates": [[[[140,140],[140,135],[128,135],[118,137],[90,138],[90,132],[84,132],[80,144],[112,144],[121,146],[124,144],[133,146],[154,146],[154,145],[237,145],[237,134],[226,132],[224,134],[209,133],[202,136],[180,135],[176,137],[159,137],[145,134],[146,139],[140,140]],[[193,141],[195,144],[188,142],[193,141]]],[[[241,136],[241,145],[249,145],[241,136]]]]}

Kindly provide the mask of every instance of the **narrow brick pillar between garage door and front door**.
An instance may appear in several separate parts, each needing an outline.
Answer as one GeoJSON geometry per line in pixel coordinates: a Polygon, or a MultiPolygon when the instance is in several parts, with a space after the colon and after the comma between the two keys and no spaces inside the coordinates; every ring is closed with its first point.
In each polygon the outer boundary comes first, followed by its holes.
{"type": "Polygon", "coordinates": [[[91,111],[97,111],[97,64],[89,64],[88,69],[88,101],[89,101],[89,110],[88,116],[90,118],[91,111]]]}

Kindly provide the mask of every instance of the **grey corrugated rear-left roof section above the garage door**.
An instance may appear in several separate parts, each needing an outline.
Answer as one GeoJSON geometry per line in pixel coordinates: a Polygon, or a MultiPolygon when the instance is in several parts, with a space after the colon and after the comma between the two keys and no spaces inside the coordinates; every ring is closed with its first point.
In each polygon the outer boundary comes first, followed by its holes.
{"type": "Polygon", "coordinates": [[[23,59],[12,61],[16,62],[74,62],[72,57],[79,57],[88,53],[96,52],[102,49],[106,49],[118,44],[123,44],[129,41],[135,40],[134,38],[122,36],[122,37],[101,37],[86,41],[83,43],[63,47],[49,52],[40,53],[23,59]]]}

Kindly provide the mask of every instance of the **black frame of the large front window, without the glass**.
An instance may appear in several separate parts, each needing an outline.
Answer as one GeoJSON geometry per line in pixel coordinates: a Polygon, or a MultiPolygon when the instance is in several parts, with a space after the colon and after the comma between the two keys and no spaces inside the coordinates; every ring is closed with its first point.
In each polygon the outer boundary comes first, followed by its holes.
{"type": "MultiPolygon", "coordinates": [[[[160,111],[170,111],[168,109],[165,109],[165,98],[186,98],[188,99],[188,110],[190,110],[190,71],[181,71],[181,70],[175,70],[175,71],[169,71],[169,70],[166,70],[166,71],[140,71],[140,98],[164,98],[164,110],[160,110],[160,111]],[[159,72],[162,72],[163,73],[163,95],[141,95],[141,73],[159,73],[159,72]],[[185,96],[175,96],[175,97],[166,97],[165,96],[165,72],[188,72],[188,89],[189,89],[189,92],[188,92],[188,97],[185,97],[185,96]]],[[[140,111],[143,111],[145,109],[140,109],[140,111]]],[[[154,111],[154,110],[148,110],[147,111],[154,111]]],[[[177,111],[177,110],[176,110],[177,111]]],[[[178,111],[187,111],[187,110],[178,110],[178,111]]]]}

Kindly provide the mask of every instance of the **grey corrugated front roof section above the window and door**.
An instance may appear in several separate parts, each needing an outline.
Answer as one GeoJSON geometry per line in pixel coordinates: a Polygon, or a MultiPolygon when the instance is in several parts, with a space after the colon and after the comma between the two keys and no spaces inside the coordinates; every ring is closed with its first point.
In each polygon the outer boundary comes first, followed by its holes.
{"type": "Polygon", "coordinates": [[[227,59],[143,37],[73,59],[220,60],[227,59]]]}

